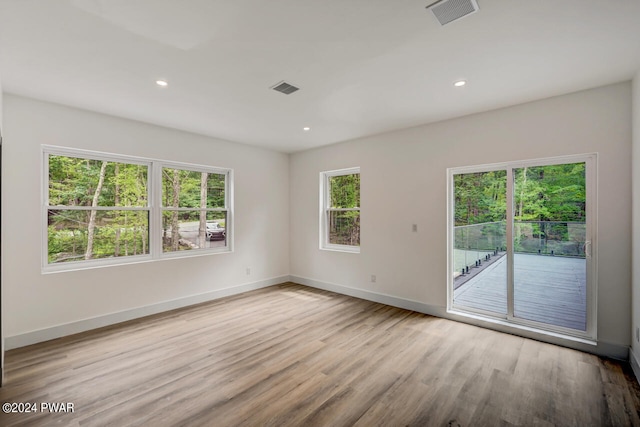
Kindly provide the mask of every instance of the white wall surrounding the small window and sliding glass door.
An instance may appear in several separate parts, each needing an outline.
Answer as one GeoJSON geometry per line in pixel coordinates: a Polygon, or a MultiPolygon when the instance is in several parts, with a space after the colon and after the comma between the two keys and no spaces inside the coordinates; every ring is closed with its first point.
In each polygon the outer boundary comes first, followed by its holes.
{"type": "Polygon", "coordinates": [[[292,280],[446,315],[446,169],[590,152],[599,153],[600,344],[585,348],[627,357],[631,336],[628,82],[292,155],[292,280]],[[321,251],[318,174],[353,166],[361,167],[361,253],[321,251]],[[412,233],[413,223],[418,224],[418,233],[412,233]],[[376,283],[370,282],[372,274],[376,283]]]}

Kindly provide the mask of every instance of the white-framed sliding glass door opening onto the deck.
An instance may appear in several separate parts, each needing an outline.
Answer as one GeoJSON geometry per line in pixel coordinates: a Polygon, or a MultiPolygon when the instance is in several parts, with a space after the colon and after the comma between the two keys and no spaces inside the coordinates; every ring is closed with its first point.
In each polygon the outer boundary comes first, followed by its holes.
{"type": "Polygon", "coordinates": [[[595,338],[595,154],[449,170],[449,310],[595,338]]]}

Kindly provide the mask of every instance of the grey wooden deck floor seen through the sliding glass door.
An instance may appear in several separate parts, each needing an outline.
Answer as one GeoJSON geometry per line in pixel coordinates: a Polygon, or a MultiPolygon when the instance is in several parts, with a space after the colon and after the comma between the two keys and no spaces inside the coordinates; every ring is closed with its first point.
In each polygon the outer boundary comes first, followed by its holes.
{"type": "MultiPolygon", "coordinates": [[[[456,306],[507,313],[506,257],[454,291],[456,306]]],[[[516,254],[514,315],[584,331],[586,269],[581,258],[516,254]]]]}

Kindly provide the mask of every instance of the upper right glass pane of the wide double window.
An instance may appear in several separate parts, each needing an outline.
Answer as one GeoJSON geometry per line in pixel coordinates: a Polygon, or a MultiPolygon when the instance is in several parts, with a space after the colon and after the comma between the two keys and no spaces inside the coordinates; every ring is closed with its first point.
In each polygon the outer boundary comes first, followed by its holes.
{"type": "Polygon", "coordinates": [[[225,208],[225,174],[162,168],[162,204],[175,208],[225,208]]]}

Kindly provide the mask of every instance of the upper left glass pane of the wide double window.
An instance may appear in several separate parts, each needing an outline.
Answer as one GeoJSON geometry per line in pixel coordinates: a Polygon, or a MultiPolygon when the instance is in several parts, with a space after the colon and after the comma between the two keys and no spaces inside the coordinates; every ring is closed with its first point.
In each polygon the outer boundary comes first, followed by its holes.
{"type": "Polygon", "coordinates": [[[147,206],[146,165],[49,156],[50,206],[147,206]]]}

